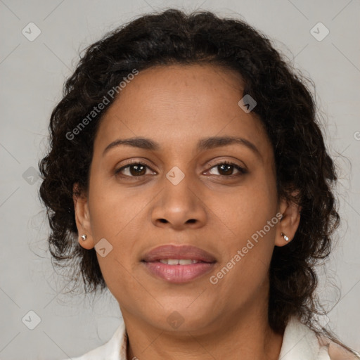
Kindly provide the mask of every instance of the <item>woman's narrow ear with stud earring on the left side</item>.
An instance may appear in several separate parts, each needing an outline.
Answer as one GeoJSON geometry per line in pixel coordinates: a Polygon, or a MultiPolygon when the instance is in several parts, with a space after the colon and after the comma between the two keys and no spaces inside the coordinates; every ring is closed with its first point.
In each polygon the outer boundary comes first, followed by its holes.
{"type": "Polygon", "coordinates": [[[83,191],[79,191],[79,184],[74,184],[72,188],[72,199],[74,200],[75,221],[78,241],[82,248],[90,250],[94,248],[94,238],[91,232],[91,221],[89,212],[89,203],[87,195],[83,191]],[[86,235],[86,240],[82,239],[82,235],[86,235]]]}

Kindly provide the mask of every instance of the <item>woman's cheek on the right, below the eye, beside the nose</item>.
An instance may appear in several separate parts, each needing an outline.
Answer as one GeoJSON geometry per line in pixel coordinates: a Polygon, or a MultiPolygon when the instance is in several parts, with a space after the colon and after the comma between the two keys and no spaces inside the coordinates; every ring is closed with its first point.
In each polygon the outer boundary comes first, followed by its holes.
{"type": "Polygon", "coordinates": [[[231,269],[224,284],[257,286],[266,279],[274,250],[278,224],[274,182],[257,176],[231,193],[213,193],[210,199],[213,225],[217,224],[212,227],[222,244],[221,266],[231,269]]]}

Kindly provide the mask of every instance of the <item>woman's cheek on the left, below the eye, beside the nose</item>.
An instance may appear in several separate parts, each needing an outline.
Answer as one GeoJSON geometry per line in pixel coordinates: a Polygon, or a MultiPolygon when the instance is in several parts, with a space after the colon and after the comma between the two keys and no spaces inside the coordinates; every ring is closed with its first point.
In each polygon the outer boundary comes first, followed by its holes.
{"type": "Polygon", "coordinates": [[[110,289],[114,283],[116,286],[120,283],[125,286],[131,280],[129,271],[132,259],[129,254],[136,253],[135,240],[139,236],[136,217],[141,217],[148,197],[144,197],[143,193],[135,188],[125,190],[113,181],[105,186],[104,183],[100,178],[91,179],[89,210],[95,245],[98,249],[102,244],[98,243],[99,241],[105,244],[106,255],[101,256],[101,251],[98,250],[96,256],[110,289]]]}

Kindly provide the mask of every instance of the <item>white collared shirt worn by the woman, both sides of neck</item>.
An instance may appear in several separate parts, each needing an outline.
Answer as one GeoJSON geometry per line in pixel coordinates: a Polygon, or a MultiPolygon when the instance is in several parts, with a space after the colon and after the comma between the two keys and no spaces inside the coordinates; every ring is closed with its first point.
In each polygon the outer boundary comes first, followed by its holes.
{"type": "MultiPolygon", "coordinates": [[[[358,354],[360,356],[360,354],[358,354]]],[[[355,355],[314,331],[298,319],[290,319],[283,335],[279,360],[353,360],[355,355]]],[[[360,357],[359,357],[360,359],[360,357]]],[[[68,360],[68,359],[67,359],[68,360]]],[[[127,359],[127,333],[124,321],[104,345],[72,360],[131,360],[127,359]]]]}

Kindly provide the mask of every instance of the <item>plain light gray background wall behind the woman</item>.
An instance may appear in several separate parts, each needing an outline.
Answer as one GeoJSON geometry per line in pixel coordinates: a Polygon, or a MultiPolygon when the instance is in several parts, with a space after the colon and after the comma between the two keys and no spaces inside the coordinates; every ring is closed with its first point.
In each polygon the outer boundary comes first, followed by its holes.
{"type": "MultiPolygon", "coordinates": [[[[53,269],[47,250],[37,162],[46,148],[51,110],[75,69],[78,51],[141,13],[169,6],[243,18],[274,39],[295,67],[314,80],[319,107],[328,119],[328,148],[339,166],[343,218],[338,245],[319,270],[327,278],[319,295],[333,299],[337,292],[330,282],[338,285],[340,302],[330,311],[329,324],[359,350],[359,0],[0,0],[0,359],[78,356],[107,341],[120,323],[120,309],[110,293],[94,304],[91,297],[60,294],[70,287],[53,269]],[[30,32],[30,22],[41,30],[34,41],[22,33],[24,28],[30,32]],[[319,22],[330,30],[322,41],[310,32],[319,22]],[[29,318],[31,310],[41,319],[34,330],[27,327],[36,319],[29,318]]],[[[324,29],[317,28],[317,36],[323,36],[324,29]]]]}

